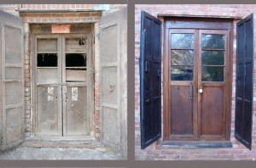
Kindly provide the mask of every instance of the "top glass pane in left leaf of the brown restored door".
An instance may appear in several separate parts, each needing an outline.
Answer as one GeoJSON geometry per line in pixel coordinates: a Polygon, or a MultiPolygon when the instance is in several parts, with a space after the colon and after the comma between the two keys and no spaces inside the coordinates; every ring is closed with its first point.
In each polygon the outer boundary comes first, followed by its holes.
{"type": "Polygon", "coordinates": [[[172,48],[175,49],[193,49],[194,34],[172,34],[172,48]]]}

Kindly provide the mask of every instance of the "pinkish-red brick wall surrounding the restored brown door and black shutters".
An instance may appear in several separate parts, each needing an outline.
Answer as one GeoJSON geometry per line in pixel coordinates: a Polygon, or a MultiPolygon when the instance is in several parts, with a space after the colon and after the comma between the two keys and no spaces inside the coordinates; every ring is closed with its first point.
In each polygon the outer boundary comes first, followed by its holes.
{"type": "MultiPolygon", "coordinates": [[[[234,20],[233,43],[233,79],[231,104],[230,141],[233,148],[162,148],[162,138],[148,148],[140,149],[140,97],[139,97],[139,66],[140,56],[140,17],[141,10],[157,17],[158,14],[199,17],[234,17],[244,18],[256,12],[255,4],[222,4],[222,5],[136,5],[135,7],[135,143],[136,160],[255,160],[256,159],[256,102],[253,102],[253,146],[245,148],[235,138],[235,96],[236,96],[236,22],[234,20]],[[195,12],[196,11],[196,12],[195,12]]],[[[160,18],[163,21],[163,18],[160,18]]],[[[162,29],[163,30],[163,29],[162,29]]],[[[254,36],[255,38],[255,36],[254,36]]],[[[164,37],[162,36],[162,39],[164,37]]],[[[256,41],[255,41],[256,42],[256,41]]],[[[255,44],[254,44],[255,45],[255,44]]],[[[163,45],[162,45],[163,48],[163,45]]],[[[162,52],[163,53],[163,52],[162,52]]],[[[254,52],[256,53],[256,52],[254,52]]],[[[255,54],[256,55],[256,54],[255,54]]],[[[254,72],[255,68],[254,68],[254,72]]],[[[255,76],[255,75],[254,75],[255,76]]],[[[254,81],[254,101],[256,101],[256,82],[254,81]]],[[[162,129],[163,130],[163,129],[162,129]]],[[[163,134],[162,134],[163,135],[163,134]]]]}

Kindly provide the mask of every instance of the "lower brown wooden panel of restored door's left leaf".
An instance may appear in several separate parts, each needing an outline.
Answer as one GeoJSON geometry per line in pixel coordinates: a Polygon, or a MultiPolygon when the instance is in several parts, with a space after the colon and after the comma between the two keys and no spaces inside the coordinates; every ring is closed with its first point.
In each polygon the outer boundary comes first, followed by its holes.
{"type": "Polygon", "coordinates": [[[171,137],[193,135],[193,98],[189,86],[171,86],[171,137]]]}

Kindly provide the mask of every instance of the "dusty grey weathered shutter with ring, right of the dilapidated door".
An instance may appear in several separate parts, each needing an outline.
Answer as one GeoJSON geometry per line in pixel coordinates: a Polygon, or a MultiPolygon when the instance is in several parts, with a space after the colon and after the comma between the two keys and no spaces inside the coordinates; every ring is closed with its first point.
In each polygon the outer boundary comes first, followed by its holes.
{"type": "Polygon", "coordinates": [[[127,142],[126,56],[127,9],[123,9],[102,16],[100,25],[102,139],[123,150],[127,142]]]}

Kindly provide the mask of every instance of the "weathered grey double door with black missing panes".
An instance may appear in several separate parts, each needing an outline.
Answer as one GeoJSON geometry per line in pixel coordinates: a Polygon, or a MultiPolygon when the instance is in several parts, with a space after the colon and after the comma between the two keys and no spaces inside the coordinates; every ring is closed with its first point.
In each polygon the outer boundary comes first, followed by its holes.
{"type": "Polygon", "coordinates": [[[90,132],[88,38],[80,34],[36,36],[36,135],[84,136],[90,132]]]}

